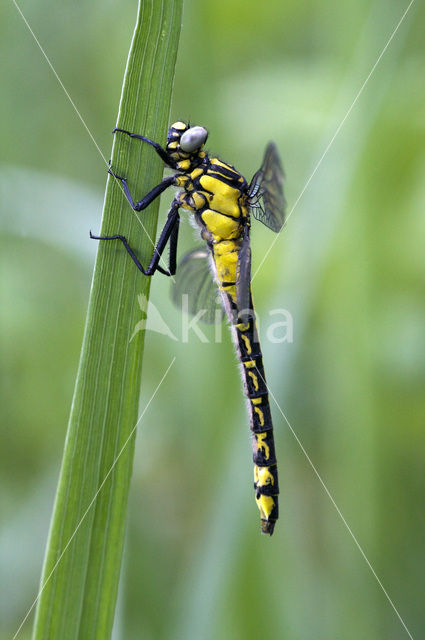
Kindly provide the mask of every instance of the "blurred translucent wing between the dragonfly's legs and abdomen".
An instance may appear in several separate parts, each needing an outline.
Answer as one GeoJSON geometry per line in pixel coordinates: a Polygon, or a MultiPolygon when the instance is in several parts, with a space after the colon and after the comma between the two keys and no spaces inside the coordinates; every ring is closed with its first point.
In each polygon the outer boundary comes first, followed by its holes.
{"type": "Polygon", "coordinates": [[[171,297],[179,309],[192,315],[205,310],[200,319],[207,324],[223,319],[224,310],[211,272],[207,248],[196,247],[189,251],[177,268],[175,280],[171,297]]]}

